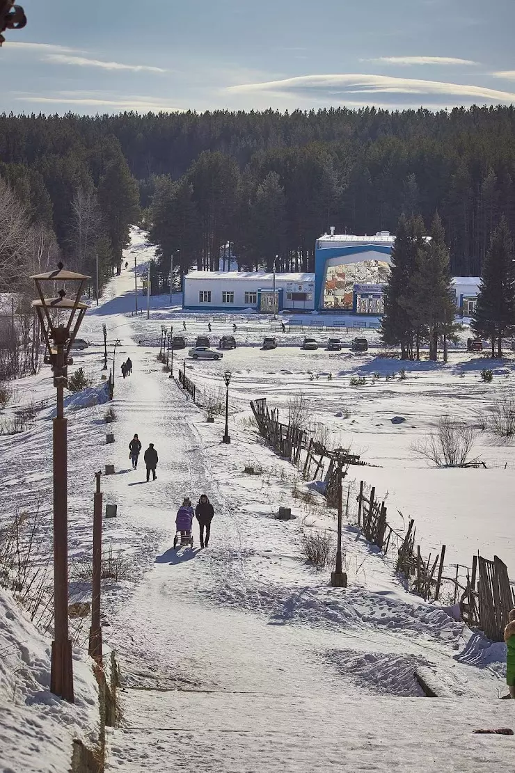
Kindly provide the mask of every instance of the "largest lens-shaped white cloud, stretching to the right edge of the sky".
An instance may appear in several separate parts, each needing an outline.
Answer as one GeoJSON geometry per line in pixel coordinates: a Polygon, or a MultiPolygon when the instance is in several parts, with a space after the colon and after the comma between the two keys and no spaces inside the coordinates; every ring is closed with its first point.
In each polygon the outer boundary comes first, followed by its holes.
{"type": "Polygon", "coordinates": [[[339,74],[304,75],[301,77],[270,80],[264,83],[246,83],[228,87],[240,94],[266,92],[268,94],[317,94],[319,97],[344,96],[346,94],[420,94],[425,97],[442,95],[471,99],[515,102],[515,94],[497,91],[467,83],[444,83],[439,80],[420,80],[386,75],[339,74]]]}

